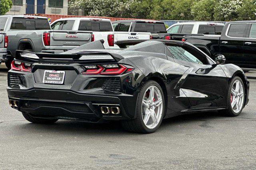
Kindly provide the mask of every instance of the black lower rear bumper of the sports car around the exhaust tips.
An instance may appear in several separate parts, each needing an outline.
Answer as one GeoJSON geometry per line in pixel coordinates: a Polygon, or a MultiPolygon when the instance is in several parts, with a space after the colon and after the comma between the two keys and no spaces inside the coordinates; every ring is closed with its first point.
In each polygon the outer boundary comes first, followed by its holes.
{"type": "Polygon", "coordinates": [[[81,119],[87,122],[104,120],[133,119],[136,98],[132,95],[108,95],[103,90],[98,94],[82,94],[70,90],[30,89],[18,90],[7,88],[9,100],[18,101],[13,107],[34,117],[58,119],[81,119]],[[64,100],[65,99],[65,100],[64,100]],[[101,106],[118,106],[120,114],[102,114],[101,106]]]}

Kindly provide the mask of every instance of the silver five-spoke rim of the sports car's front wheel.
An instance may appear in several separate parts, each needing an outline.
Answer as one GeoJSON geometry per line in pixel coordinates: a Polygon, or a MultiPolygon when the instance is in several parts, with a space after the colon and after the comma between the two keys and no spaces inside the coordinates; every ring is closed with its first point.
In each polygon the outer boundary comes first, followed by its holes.
{"type": "Polygon", "coordinates": [[[230,102],[235,113],[241,111],[244,104],[244,87],[240,80],[236,80],[232,85],[230,102]]]}

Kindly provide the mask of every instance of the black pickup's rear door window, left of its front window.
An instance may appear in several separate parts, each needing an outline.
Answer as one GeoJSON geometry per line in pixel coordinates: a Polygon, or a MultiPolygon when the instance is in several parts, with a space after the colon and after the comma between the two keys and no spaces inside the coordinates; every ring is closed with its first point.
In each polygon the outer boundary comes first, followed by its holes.
{"type": "Polygon", "coordinates": [[[244,38],[246,34],[247,24],[230,24],[228,36],[244,38]]]}

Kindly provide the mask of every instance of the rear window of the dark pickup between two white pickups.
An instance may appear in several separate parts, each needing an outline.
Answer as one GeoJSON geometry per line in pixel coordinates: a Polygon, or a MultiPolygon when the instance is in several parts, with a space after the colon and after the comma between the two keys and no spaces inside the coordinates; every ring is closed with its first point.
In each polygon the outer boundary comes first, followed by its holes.
{"type": "Polygon", "coordinates": [[[166,28],[161,22],[136,22],[134,32],[166,33],[166,28]]]}

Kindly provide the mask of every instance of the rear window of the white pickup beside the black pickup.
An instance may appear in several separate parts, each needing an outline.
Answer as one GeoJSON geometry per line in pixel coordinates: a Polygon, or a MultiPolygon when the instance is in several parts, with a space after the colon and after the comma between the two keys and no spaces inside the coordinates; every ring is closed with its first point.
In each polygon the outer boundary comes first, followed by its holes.
{"type": "Polygon", "coordinates": [[[224,26],[200,25],[198,34],[220,35],[224,26]]]}

